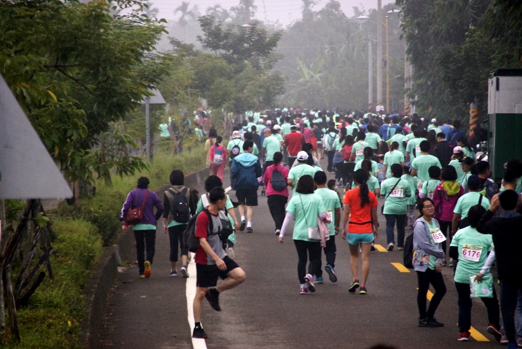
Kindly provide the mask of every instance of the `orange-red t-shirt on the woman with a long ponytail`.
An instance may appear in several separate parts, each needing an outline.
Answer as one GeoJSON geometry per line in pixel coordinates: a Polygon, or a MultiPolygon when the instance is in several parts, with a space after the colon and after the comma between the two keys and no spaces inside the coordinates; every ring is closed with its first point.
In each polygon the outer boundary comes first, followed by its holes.
{"type": "Polygon", "coordinates": [[[359,188],[354,188],[346,192],[345,204],[350,205],[350,222],[348,223],[348,232],[354,234],[366,234],[373,232],[372,226],[372,207],[377,207],[377,197],[370,191],[370,205],[366,204],[361,207],[361,196],[359,188]]]}

